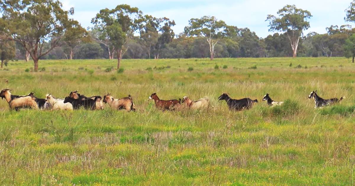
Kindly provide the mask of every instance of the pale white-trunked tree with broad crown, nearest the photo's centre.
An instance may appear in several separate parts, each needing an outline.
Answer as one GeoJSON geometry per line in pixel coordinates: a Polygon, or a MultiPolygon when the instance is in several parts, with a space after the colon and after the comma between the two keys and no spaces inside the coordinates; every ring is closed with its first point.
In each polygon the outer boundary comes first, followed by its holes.
{"type": "Polygon", "coordinates": [[[211,60],[214,58],[214,47],[226,32],[224,21],[218,21],[214,16],[203,16],[200,19],[192,18],[189,26],[185,27],[185,34],[188,36],[202,36],[206,38],[209,44],[211,60]]]}

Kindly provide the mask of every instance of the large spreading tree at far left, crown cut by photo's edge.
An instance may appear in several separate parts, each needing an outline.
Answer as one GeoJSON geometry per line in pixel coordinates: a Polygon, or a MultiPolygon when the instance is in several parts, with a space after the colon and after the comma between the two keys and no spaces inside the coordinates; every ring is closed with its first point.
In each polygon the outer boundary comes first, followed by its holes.
{"type": "Polygon", "coordinates": [[[67,30],[82,30],[77,21],[69,18],[74,9],[62,10],[58,0],[0,1],[0,10],[1,35],[26,49],[33,59],[35,72],[41,57],[67,43],[64,40],[67,30]],[[44,49],[45,43],[50,43],[48,49],[44,49]]]}

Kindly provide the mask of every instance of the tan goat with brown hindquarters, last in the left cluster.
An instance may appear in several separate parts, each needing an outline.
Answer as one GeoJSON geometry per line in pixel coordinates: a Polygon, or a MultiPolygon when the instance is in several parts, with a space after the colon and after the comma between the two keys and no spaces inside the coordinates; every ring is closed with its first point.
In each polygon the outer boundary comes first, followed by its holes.
{"type": "Polygon", "coordinates": [[[114,109],[125,109],[128,112],[136,111],[131,95],[128,95],[128,97],[115,99],[111,96],[111,94],[107,94],[104,96],[104,103],[107,103],[111,108],[114,109]]]}

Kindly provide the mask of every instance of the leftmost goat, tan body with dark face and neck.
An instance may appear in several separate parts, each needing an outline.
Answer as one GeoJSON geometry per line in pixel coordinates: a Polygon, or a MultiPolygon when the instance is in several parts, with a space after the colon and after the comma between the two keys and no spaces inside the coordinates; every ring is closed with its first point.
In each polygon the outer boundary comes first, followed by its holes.
{"type": "Polygon", "coordinates": [[[0,92],[1,99],[4,99],[9,103],[10,109],[19,111],[21,108],[38,109],[37,102],[35,102],[32,96],[17,96],[12,95],[10,89],[4,89],[0,92]]]}

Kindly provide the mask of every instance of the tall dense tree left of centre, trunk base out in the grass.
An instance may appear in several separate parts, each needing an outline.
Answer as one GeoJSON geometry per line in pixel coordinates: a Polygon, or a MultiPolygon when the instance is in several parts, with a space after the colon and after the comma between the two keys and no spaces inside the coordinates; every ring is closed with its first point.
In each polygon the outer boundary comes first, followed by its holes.
{"type": "Polygon", "coordinates": [[[120,68],[124,46],[133,33],[139,29],[142,12],[137,7],[129,5],[118,5],[115,9],[102,9],[94,17],[91,23],[99,26],[99,29],[107,33],[110,45],[117,52],[117,68],[120,68]]]}

